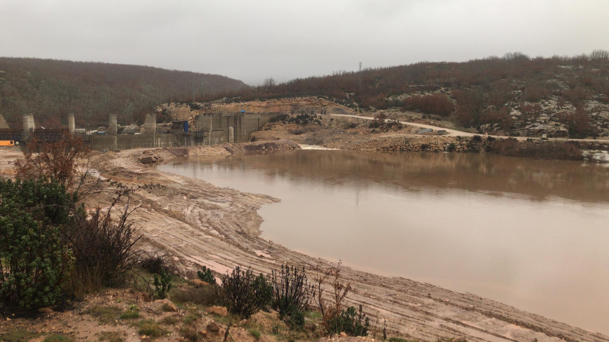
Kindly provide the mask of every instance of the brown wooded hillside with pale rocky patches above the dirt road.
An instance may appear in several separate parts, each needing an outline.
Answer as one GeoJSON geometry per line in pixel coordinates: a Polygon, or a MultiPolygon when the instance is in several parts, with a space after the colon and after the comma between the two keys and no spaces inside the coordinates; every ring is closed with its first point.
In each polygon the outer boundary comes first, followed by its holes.
{"type": "Polygon", "coordinates": [[[609,52],[551,58],[507,53],[463,63],[364,69],[361,75],[335,72],[280,84],[267,80],[263,86],[216,98],[300,95],[319,95],[364,111],[399,107],[485,132],[607,135],[609,52]]]}

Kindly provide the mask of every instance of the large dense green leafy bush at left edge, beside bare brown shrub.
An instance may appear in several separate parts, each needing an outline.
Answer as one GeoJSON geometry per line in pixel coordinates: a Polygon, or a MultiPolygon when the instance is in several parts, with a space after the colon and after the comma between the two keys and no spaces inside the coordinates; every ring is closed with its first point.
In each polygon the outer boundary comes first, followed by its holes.
{"type": "Polygon", "coordinates": [[[70,224],[65,186],[0,180],[0,298],[9,307],[53,306],[69,275],[72,251],[60,226],[70,224]]]}

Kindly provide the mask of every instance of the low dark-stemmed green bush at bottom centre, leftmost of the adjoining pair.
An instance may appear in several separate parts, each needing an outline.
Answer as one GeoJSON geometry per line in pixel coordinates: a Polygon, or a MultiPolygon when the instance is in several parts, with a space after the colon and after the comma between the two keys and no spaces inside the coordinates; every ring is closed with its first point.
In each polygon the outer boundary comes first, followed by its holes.
{"type": "Polygon", "coordinates": [[[262,273],[255,276],[251,268],[242,271],[236,267],[222,279],[222,289],[228,311],[242,318],[265,309],[272,298],[272,286],[262,273]]]}

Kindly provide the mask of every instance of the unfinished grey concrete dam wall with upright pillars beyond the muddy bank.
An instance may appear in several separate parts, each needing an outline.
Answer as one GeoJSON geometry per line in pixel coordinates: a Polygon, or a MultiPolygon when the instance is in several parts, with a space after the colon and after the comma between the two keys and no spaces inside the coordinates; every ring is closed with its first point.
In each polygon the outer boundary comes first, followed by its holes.
{"type": "Polygon", "coordinates": [[[116,116],[110,116],[110,127],[106,134],[91,134],[91,149],[114,151],[115,149],[158,148],[178,146],[203,146],[219,143],[242,143],[249,135],[258,131],[276,113],[216,113],[201,114],[194,127],[172,128],[161,133],[156,129],[156,115],[146,115],[143,134],[117,134],[116,116]]]}

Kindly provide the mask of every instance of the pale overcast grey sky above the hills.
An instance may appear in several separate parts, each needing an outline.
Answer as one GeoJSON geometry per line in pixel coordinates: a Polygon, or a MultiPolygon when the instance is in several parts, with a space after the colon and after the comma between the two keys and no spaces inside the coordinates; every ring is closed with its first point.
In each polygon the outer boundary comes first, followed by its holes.
{"type": "Polygon", "coordinates": [[[0,55],[258,84],[333,70],[609,50],[608,0],[0,0],[0,55]]]}

